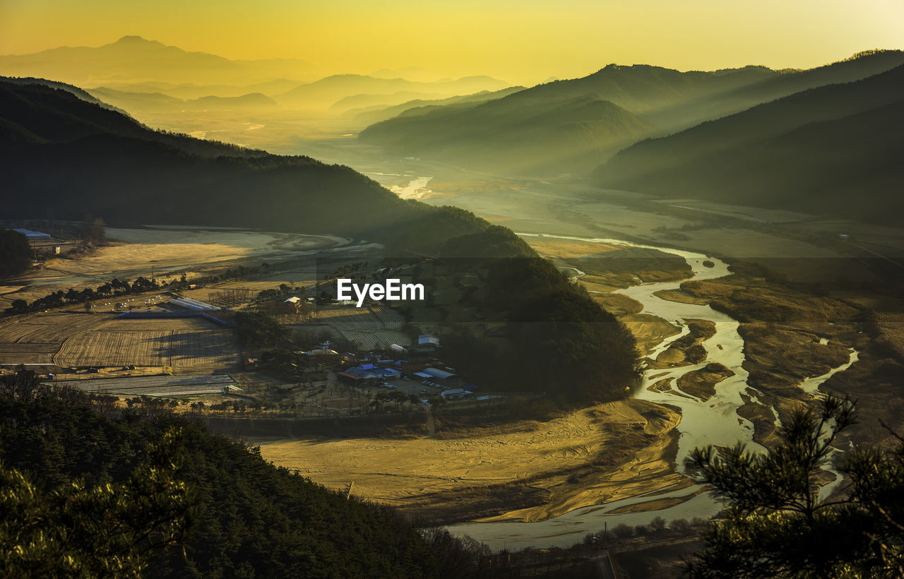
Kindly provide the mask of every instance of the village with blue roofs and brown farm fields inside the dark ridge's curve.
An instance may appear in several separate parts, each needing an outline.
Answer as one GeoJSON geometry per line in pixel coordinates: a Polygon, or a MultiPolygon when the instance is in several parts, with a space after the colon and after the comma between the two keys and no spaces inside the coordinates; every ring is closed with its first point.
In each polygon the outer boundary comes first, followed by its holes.
{"type": "MultiPolygon", "coordinates": [[[[34,243],[65,243],[29,234],[34,243]]],[[[333,281],[410,281],[410,264],[365,251],[230,272],[164,270],[96,289],[49,285],[31,304],[13,301],[14,315],[0,320],[0,372],[33,372],[122,406],[214,416],[392,414],[501,398],[478,393],[447,366],[438,336],[417,332],[410,313],[343,299],[333,281]],[[261,321],[278,339],[259,339],[261,321]]]]}

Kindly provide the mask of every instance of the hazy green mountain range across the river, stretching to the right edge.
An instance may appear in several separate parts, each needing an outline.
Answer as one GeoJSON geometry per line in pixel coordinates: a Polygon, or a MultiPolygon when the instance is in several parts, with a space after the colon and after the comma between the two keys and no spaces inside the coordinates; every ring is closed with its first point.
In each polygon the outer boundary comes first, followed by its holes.
{"type": "Polygon", "coordinates": [[[681,72],[609,65],[588,77],[549,82],[472,107],[452,104],[416,118],[400,115],[368,126],[359,138],[394,154],[490,173],[587,174],[644,138],[798,90],[863,79],[902,62],[904,52],[871,51],[813,70],[749,66],[681,72]]]}

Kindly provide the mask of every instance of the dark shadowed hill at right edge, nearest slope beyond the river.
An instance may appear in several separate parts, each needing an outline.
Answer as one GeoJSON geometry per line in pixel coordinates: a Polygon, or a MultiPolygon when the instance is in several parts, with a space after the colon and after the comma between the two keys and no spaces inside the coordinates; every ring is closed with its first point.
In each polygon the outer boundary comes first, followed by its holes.
{"type": "Polygon", "coordinates": [[[892,222],[904,210],[904,66],[643,141],[600,186],[892,222]]]}

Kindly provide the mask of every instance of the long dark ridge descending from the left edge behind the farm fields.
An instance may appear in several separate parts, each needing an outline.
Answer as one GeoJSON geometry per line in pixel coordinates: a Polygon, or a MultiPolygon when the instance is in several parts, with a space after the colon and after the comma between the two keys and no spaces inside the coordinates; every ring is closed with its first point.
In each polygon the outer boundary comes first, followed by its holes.
{"type": "Polygon", "coordinates": [[[409,228],[429,253],[476,230],[464,212],[401,201],[348,167],[171,135],[69,91],[0,80],[5,212],[329,232],[391,244],[409,228]],[[461,219],[459,219],[461,218],[461,219]],[[432,225],[433,227],[429,227],[432,225]],[[428,227],[424,227],[428,226],[428,227]]]}

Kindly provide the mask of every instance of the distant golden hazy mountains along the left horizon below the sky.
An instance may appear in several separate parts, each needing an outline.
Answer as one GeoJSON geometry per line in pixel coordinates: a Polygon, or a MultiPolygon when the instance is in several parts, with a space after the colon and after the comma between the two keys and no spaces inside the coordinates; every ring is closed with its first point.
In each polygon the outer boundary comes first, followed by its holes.
{"type": "MultiPolygon", "coordinates": [[[[412,98],[446,98],[508,86],[502,80],[485,76],[435,81],[391,78],[387,76],[391,70],[378,70],[373,76],[336,74],[317,79],[316,70],[309,62],[297,59],[231,61],[140,36],[123,36],[97,47],[63,46],[33,54],[0,56],[0,75],[41,77],[79,87],[139,93],[106,93],[119,99],[125,108],[150,101],[163,107],[165,103],[157,93],[186,101],[204,97],[248,100],[245,97],[259,93],[275,98],[285,107],[324,111],[336,101],[354,96],[366,100],[365,96],[370,95],[372,102],[366,104],[391,106],[412,98]],[[154,96],[146,97],[146,93],[154,96]],[[408,94],[394,96],[398,93],[408,94]]],[[[423,71],[409,71],[419,79],[425,77],[423,71]]],[[[245,104],[230,101],[213,106],[245,104]]],[[[349,105],[355,106],[359,105],[349,105]]]]}

